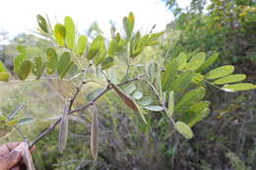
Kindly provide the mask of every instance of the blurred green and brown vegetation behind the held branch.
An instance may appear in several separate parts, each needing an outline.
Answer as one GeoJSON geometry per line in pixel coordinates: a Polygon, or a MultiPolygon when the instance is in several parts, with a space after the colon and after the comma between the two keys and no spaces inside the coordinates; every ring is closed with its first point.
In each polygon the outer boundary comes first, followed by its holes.
{"type": "MultiPolygon", "coordinates": [[[[160,55],[176,57],[180,52],[220,53],[219,64],[233,64],[237,73],[256,80],[256,1],[255,0],[192,0],[182,9],[175,0],[162,0],[175,16],[166,26],[159,46],[143,53],[143,61],[150,63],[160,55]]],[[[135,14],[136,15],[136,14],[135,14]]],[[[102,33],[95,24],[86,30],[88,36],[102,33]]],[[[0,32],[0,60],[13,70],[13,58],[26,51],[30,56],[44,55],[51,46],[45,39],[32,34],[8,37],[0,32]],[[5,43],[4,43],[5,42],[5,43]],[[8,42],[8,43],[6,43],[8,42]],[[26,50],[25,50],[26,49],[26,50]]],[[[140,63],[140,61],[138,61],[140,63]]],[[[120,73],[125,72],[118,68],[120,73]]],[[[143,68],[142,68],[143,69],[143,68]]],[[[134,76],[136,73],[131,73],[134,76]]],[[[120,74],[121,75],[121,74],[120,74]]],[[[119,75],[112,75],[118,80],[119,75]]],[[[94,95],[98,86],[88,86],[80,94],[76,105],[94,95]]],[[[143,85],[136,85],[145,96],[151,93],[143,85]]],[[[153,115],[154,129],[144,126],[112,92],[97,102],[100,112],[99,158],[90,154],[90,111],[71,118],[70,138],[63,155],[58,152],[58,131],[38,142],[33,154],[38,170],[48,169],[256,169],[256,94],[255,91],[224,93],[209,87],[207,100],[212,102],[210,116],[197,124],[195,138],[186,141],[170,136],[165,118],[153,115]],[[155,119],[157,118],[157,119],[155,119]],[[151,133],[149,133],[151,132],[151,133]]],[[[20,115],[35,120],[22,128],[30,139],[47,128],[63,110],[63,98],[72,94],[72,85],[58,81],[0,84],[0,112],[10,113],[21,102],[26,107],[20,115]]],[[[0,142],[21,141],[16,131],[0,129],[0,142]]]]}

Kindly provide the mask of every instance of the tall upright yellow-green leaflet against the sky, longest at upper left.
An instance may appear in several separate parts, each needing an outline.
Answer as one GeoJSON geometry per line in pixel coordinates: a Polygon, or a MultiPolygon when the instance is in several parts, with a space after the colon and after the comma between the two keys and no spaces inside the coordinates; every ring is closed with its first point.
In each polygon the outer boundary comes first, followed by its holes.
{"type": "Polygon", "coordinates": [[[74,49],[76,40],[76,27],[71,17],[65,17],[64,26],[66,28],[66,43],[68,48],[74,49]]]}

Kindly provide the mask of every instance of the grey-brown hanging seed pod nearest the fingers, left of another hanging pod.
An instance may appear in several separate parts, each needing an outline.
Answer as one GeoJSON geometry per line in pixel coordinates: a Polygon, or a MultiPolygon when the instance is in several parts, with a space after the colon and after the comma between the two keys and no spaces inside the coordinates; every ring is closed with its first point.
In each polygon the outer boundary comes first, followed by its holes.
{"type": "Polygon", "coordinates": [[[62,154],[63,150],[66,148],[67,141],[68,141],[68,108],[69,105],[66,103],[64,108],[64,113],[61,118],[60,122],[60,129],[59,129],[59,151],[62,154]]]}

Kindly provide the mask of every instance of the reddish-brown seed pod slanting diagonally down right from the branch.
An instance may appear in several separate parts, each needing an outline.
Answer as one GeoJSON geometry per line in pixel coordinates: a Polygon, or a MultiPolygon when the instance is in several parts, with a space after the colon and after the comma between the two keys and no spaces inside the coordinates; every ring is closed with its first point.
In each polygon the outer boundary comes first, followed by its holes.
{"type": "Polygon", "coordinates": [[[125,102],[127,106],[129,106],[131,109],[135,111],[139,111],[139,107],[137,106],[137,104],[135,103],[131,96],[123,92],[118,86],[113,84],[111,85],[114,88],[115,92],[121,97],[121,99],[123,100],[123,102],[125,102]]]}

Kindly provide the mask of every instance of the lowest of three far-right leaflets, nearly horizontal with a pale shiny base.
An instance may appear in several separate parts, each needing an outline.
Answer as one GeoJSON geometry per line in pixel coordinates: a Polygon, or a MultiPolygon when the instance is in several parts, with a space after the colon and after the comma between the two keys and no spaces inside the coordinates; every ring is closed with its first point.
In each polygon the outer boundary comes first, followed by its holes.
{"type": "Polygon", "coordinates": [[[234,91],[240,91],[240,90],[249,90],[249,89],[255,89],[256,85],[248,84],[248,83],[240,83],[240,84],[234,84],[234,85],[224,85],[222,89],[228,92],[234,92],[234,91]]]}

